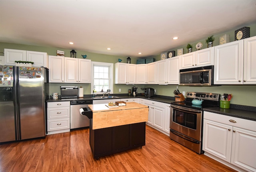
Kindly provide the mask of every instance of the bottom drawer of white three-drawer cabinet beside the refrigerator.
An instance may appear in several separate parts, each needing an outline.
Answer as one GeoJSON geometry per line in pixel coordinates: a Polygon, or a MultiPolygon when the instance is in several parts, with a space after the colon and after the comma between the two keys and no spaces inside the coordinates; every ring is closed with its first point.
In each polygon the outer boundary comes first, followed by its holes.
{"type": "Polygon", "coordinates": [[[70,128],[70,118],[59,120],[48,120],[47,131],[63,130],[70,128]]]}

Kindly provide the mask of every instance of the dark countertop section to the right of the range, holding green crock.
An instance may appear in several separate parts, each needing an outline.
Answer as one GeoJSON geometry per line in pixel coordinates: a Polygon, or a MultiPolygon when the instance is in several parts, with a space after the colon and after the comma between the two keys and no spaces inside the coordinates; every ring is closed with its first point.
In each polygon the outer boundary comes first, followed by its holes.
{"type": "Polygon", "coordinates": [[[256,121],[256,112],[254,111],[241,110],[241,109],[235,109],[235,108],[223,109],[220,107],[204,108],[203,110],[207,112],[213,112],[216,114],[222,114],[222,115],[233,116],[237,118],[243,118],[246,120],[256,121]]]}

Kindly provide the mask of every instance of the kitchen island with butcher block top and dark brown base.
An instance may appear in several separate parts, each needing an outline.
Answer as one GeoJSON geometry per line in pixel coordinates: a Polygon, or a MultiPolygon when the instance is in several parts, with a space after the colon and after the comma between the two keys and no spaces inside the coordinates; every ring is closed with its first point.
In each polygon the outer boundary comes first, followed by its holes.
{"type": "Polygon", "coordinates": [[[127,102],[126,106],[88,105],[90,147],[94,158],[142,147],[145,145],[148,106],[127,102]]]}

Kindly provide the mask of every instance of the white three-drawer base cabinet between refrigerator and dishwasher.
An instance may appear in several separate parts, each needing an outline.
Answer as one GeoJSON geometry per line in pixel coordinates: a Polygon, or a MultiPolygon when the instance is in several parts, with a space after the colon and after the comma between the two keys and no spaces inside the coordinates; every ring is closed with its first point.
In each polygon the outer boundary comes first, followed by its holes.
{"type": "Polygon", "coordinates": [[[70,102],[47,103],[47,134],[70,131],[70,102]]]}

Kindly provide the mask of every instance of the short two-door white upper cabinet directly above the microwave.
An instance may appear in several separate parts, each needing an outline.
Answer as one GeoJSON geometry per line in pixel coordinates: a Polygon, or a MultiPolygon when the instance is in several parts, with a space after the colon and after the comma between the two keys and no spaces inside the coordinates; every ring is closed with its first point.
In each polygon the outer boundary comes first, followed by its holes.
{"type": "Polygon", "coordinates": [[[181,55],[181,68],[196,68],[214,65],[214,47],[181,55]]]}

